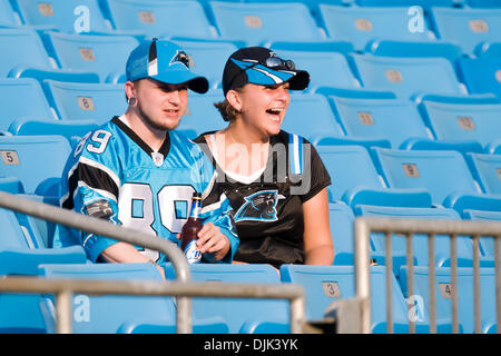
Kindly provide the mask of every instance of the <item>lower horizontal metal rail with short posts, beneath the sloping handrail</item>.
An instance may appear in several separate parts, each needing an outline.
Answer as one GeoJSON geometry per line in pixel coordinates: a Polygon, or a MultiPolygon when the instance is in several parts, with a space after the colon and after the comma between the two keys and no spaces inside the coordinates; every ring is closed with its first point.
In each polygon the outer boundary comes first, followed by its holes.
{"type": "Polygon", "coordinates": [[[289,301],[291,333],[299,334],[305,323],[303,287],[293,284],[236,284],[218,281],[151,281],[151,280],[85,280],[8,277],[0,279],[2,293],[56,294],[57,332],[71,333],[72,295],[135,295],[175,297],[229,297],[287,299],[289,301]]]}

